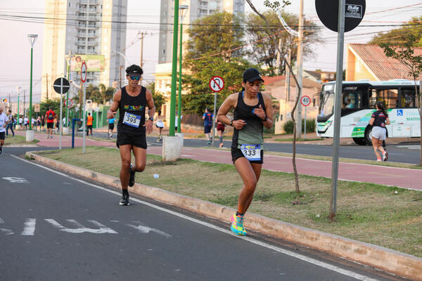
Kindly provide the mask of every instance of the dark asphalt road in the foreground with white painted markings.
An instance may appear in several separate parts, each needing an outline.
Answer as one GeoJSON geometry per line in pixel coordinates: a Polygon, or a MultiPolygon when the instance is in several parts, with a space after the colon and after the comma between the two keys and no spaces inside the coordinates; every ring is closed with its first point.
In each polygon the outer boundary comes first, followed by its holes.
{"type": "MultiPolygon", "coordinates": [[[[27,148],[32,150],[33,148],[27,148]]],[[[1,280],[397,280],[343,259],[0,157],[1,280]]]]}

